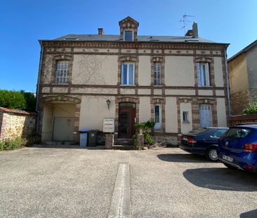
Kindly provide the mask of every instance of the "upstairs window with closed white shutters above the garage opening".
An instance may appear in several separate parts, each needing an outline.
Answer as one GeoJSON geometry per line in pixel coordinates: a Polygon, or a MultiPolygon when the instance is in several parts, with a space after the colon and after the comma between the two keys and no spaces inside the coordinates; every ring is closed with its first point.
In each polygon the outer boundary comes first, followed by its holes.
{"type": "Polygon", "coordinates": [[[70,73],[70,62],[68,61],[59,61],[56,65],[56,76],[55,83],[67,83],[70,73]]]}

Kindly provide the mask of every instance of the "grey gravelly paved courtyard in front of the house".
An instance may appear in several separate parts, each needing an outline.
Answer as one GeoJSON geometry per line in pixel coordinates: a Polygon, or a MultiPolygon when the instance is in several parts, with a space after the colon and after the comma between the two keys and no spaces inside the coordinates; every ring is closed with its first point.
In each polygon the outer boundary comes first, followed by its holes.
{"type": "Polygon", "coordinates": [[[257,176],[178,148],[0,153],[0,217],[107,217],[129,163],[131,217],[257,217],[257,176]]]}

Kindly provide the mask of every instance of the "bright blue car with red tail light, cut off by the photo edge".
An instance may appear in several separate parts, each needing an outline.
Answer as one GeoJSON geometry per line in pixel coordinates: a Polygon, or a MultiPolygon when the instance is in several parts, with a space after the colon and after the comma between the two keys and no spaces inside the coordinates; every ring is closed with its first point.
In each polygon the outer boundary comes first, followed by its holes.
{"type": "Polygon", "coordinates": [[[257,125],[235,125],[220,137],[218,158],[228,168],[257,172],[257,125]]]}

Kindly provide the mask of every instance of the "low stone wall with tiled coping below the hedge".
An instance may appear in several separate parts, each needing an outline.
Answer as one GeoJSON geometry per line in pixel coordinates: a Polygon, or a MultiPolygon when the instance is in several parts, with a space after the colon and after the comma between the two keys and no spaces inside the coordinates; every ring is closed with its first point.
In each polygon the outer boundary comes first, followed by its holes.
{"type": "Polygon", "coordinates": [[[0,107],[0,140],[34,136],[36,123],[36,113],[0,107]]]}

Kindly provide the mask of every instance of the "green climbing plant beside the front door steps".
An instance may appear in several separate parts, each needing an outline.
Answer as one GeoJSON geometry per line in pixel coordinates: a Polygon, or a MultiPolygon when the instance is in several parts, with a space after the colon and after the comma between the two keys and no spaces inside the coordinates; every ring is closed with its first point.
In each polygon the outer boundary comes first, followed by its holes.
{"type": "Polygon", "coordinates": [[[133,135],[132,139],[134,142],[134,148],[136,150],[143,149],[138,145],[138,139],[137,139],[138,135],[144,135],[146,144],[148,145],[154,144],[154,139],[152,138],[152,135],[149,132],[152,128],[154,128],[154,125],[155,125],[154,121],[147,121],[144,123],[135,123],[136,134],[133,135]]]}

